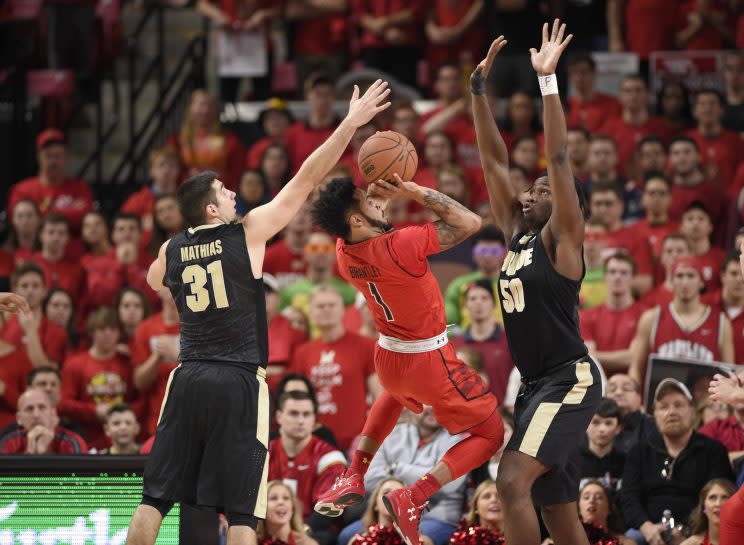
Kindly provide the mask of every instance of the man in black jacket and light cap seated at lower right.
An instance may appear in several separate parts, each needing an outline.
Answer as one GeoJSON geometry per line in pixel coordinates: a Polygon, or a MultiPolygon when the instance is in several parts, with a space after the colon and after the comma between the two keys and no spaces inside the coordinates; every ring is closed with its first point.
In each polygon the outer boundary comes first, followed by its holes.
{"type": "Polygon", "coordinates": [[[733,478],[725,447],[693,430],[692,394],[684,384],[671,378],[659,383],[654,418],[658,432],[628,453],[620,500],[631,528],[626,535],[641,545],[664,543],[665,510],[686,524],[705,483],[733,478]]]}

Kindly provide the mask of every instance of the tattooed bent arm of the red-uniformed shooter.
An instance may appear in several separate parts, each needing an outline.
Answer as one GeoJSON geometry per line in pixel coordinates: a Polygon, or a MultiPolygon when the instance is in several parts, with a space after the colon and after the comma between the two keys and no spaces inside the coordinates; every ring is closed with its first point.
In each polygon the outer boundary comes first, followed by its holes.
{"type": "Polygon", "coordinates": [[[474,234],[481,226],[481,218],[444,193],[421,187],[414,182],[404,182],[394,174],[394,180],[372,182],[368,193],[383,199],[411,199],[428,208],[441,219],[434,222],[442,250],[452,248],[474,234]]]}

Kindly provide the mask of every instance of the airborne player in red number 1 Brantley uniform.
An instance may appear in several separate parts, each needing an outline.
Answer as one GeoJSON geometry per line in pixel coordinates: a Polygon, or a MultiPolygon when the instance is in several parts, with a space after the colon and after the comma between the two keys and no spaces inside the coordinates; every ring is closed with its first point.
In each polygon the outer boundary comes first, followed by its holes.
{"type": "Polygon", "coordinates": [[[373,182],[366,193],[350,178],[333,180],[314,203],[313,219],[339,238],[339,271],[365,295],[374,315],[380,332],[375,369],[385,388],[370,410],[351,465],[315,510],[337,516],[361,502],[364,474],[403,407],[420,413],[430,405],[450,434],[470,436],[413,485],[383,498],[404,541],[418,544],[427,499],[488,460],[503,442],[496,398],[447,340],[444,301],[426,260],[475,233],[480,218],[446,195],[395,175],[390,182],[373,182]],[[416,201],[440,219],[393,230],[385,218],[386,201],[392,199],[416,201]]]}

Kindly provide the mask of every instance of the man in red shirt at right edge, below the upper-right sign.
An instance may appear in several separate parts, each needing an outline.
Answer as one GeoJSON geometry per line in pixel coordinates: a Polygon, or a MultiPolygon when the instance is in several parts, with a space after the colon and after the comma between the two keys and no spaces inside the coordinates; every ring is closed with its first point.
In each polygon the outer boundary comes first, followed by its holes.
{"type": "Polygon", "coordinates": [[[697,127],[687,134],[697,142],[706,177],[717,179],[731,196],[734,174],[744,157],[744,143],[737,133],[723,127],[725,104],[721,94],[714,89],[698,92],[692,111],[697,127]]]}

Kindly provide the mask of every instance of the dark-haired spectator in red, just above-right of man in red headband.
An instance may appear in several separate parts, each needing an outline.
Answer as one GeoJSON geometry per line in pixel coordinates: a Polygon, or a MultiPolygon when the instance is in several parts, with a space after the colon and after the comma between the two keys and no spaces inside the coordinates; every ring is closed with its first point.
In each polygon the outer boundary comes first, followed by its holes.
{"type": "Polygon", "coordinates": [[[700,202],[690,203],[685,213],[682,214],[679,232],[682,233],[690,245],[690,254],[695,257],[703,280],[709,290],[717,290],[721,287],[718,271],[725,252],[710,243],[713,233],[713,223],[710,214],[700,202]]]}

